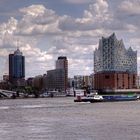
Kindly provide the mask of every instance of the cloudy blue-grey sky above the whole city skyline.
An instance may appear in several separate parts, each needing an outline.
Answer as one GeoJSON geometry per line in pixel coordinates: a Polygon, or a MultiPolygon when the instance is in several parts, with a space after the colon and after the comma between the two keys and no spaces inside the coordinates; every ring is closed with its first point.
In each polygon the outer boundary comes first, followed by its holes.
{"type": "Polygon", "coordinates": [[[137,50],[140,64],[140,0],[0,0],[0,77],[19,48],[26,78],[55,68],[67,56],[69,77],[93,73],[93,51],[112,33],[137,50]]]}

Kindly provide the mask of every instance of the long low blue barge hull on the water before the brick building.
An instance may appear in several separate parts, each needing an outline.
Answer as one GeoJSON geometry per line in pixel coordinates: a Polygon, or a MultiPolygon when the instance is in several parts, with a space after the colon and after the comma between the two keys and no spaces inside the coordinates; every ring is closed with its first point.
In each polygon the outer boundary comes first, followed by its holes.
{"type": "Polygon", "coordinates": [[[138,100],[139,96],[137,94],[132,95],[103,95],[104,101],[134,101],[138,100]]]}

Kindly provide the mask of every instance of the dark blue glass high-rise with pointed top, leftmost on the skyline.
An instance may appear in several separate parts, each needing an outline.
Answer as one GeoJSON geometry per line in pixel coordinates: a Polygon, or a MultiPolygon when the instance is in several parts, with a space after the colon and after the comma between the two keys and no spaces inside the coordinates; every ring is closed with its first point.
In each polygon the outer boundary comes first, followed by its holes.
{"type": "Polygon", "coordinates": [[[25,57],[19,49],[14,54],[9,54],[9,80],[25,78],[25,57]]]}

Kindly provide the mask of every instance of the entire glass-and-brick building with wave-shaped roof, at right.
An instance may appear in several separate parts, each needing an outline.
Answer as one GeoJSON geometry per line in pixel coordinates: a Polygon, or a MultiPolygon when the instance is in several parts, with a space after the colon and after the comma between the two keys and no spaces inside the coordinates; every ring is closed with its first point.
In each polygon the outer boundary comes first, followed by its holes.
{"type": "Polygon", "coordinates": [[[136,88],[137,52],[126,49],[123,41],[113,33],[99,40],[94,51],[95,89],[136,88]]]}

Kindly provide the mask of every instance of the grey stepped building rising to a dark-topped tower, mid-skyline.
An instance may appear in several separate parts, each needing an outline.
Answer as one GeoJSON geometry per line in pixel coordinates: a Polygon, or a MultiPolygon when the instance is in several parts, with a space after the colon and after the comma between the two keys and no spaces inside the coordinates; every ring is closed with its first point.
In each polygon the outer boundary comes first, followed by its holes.
{"type": "Polygon", "coordinates": [[[46,88],[48,90],[65,91],[68,88],[68,60],[64,56],[58,57],[54,70],[47,71],[46,88]]]}

